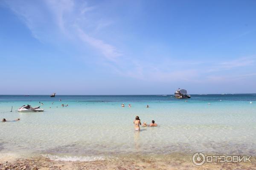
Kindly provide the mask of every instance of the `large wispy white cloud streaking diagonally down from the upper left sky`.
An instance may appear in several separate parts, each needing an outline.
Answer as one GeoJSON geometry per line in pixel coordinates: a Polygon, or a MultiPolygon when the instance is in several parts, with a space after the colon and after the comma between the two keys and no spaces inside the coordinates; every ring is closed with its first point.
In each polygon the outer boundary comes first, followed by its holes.
{"type": "MultiPolygon", "coordinates": [[[[87,6],[84,4],[76,4],[72,0],[46,0],[43,4],[38,3],[16,3],[16,1],[6,1],[10,8],[20,17],[21,20],[31,30],[33,37],[44,41],[54,40],[55,34],[61,34],[60,37],[67,37],[77,41],[80,39],[84,45],[92,46],[95,51],[99,51],[103,57],[110,61],[114,61],[116,57],[122,56],[114,45],[95,38],[90,35],[89,31],[84,27],[84,18],[87,18],[87,12],[96,9],[96,6],[87,6]],[[80,21],[80,19],[83,20],[80,21]],[[49,26],[49,23],[52,26],[49,26]],[[45,34],[52,35],[50,38],[45,34]]],[[[91,21],[91,20],[90,20],[91,21]]],[[[96,30],[111,24],[111,21],[96,19],[93,23],[96,30]]]]}

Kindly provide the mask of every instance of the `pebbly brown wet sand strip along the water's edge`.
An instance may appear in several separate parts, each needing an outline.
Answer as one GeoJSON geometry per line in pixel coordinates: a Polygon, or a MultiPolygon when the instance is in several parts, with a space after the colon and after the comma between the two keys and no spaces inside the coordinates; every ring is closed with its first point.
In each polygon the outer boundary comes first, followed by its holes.
{"type": "Polygon", "coordinates": [[[205,163],[196,166],[192,156],[124,155],[104,161],[54,161],[42,156],[1,162],[0,170],[255,170],[256,157],[247,163],[205,163]]]}

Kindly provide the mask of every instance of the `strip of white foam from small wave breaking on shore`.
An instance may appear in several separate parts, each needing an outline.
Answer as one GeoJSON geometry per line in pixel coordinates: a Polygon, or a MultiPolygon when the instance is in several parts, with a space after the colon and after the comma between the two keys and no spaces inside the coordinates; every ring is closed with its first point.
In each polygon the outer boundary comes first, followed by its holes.
{"type": "Polygon", "coordinates": [[[42,156],[49,158],[52,161],[104,161],[105,156],[57,156],[43,154],[42,156]]]}

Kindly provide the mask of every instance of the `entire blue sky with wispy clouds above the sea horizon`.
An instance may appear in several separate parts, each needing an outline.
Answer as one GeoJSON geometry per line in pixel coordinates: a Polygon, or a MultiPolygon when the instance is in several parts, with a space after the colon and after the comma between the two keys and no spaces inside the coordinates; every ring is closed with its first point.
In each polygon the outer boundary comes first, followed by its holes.
{"type": "Polygon", "coordinates": [[[0,94],[256,93],[255,0],[1,0],[0,94]]]}

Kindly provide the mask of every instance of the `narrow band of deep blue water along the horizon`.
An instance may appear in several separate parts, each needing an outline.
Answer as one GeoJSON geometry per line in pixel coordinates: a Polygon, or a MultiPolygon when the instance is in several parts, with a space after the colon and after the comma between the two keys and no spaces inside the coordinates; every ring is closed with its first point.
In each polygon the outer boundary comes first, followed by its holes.
{"type": "Polygon", "coordinates": [[[0,102],[14,101],[79,101],[79,102],[190,102],[256,101],[256,94],[192,94],[190,99],[175,99],[173,95],[0,95],[0,102]]]}

